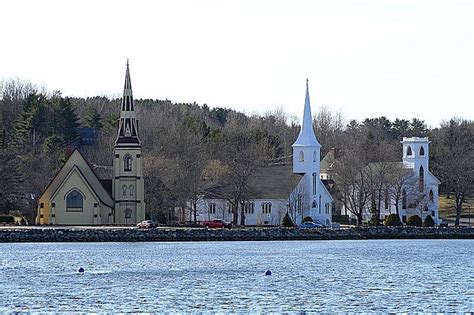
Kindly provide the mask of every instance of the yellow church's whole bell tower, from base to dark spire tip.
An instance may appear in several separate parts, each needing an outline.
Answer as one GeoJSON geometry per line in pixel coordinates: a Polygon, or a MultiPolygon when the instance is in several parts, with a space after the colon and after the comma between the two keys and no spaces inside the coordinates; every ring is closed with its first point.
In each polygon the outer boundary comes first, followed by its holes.
{"type": "Polygon", "coordinates": [[[136,224],[145,220],[142,146],[128,60],[114,147],[113,176],[114,223],[136,224]]]}

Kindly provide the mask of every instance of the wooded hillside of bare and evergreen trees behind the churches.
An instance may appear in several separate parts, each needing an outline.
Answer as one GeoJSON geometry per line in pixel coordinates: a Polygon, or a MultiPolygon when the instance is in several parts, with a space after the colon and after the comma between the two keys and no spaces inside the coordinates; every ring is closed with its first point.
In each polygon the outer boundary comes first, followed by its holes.
{"type": "MultiPolygon", "coordinates": [[[[19,80],[1,82],[0,92],[0,212],[18,209],[32,220],[36,198],[77,145],[80,127],[100,130],[94,145],[80,149],[100,176],[111,176],[120,99],[64,97],[59,91],[47,92],[19,80]]],[[[248,116],[196,103],[151,99],[135,103],[149,214],[166,218],[170,207],[184,209],[186,201],[194,204],[212,185],[222,187],[222,197],[236,214],[255,189],[251,179],[262,167],[291,161],[299,122],[281,110],[248,116]]],[[[343,152],[345,164],[338,166],[341,185],[356,180],[358,167],[370,162],[400,161],[402,137],[428,136],[431,171],[442,181],[441,190],[455,198],[459,214],[472,194],[471,120],[447,117],[439,128],[428,129],[419,118],[346,120],[323,107],[314,125],[321,158],[333,147],[343,152]]],[[[372,201],[374,178],[372,174],[372,201]]]]}

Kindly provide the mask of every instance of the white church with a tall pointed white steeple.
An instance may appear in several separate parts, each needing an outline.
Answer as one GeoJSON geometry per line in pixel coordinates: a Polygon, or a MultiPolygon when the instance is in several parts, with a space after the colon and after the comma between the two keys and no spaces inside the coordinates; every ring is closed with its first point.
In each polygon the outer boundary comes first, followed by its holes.
{"type": "MultiPolygon", "coordinates": [[[[257,187],[253,196],[242,205],[245,225],[280,225],[288,212],[296,224],[310,216],[325,226],[332,224],[333,198],[320,176],[320,149],[311,115],[308,81],[301,130],[293,144],[292,167],[268,166],[262,170],[265,176],[255,179],[257,187]]],[[[232,221],[233,213],[225,199],[203,194],[197,201],[197,221],[223,219],[232,221]]],[[[183,220],[193,220],[188,205],[183,220]]],[[[239,209],[239,221],[241,209],[239,209]]]]}

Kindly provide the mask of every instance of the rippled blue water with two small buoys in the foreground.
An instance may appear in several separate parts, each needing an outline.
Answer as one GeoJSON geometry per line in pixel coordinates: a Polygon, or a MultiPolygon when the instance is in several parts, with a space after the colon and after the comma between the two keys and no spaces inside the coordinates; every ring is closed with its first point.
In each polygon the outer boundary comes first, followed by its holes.
{"type": "Polygon", "coordinates": [[[473,240],[0,244],[0,312],[466,312],[473,254],[473,240]]]}

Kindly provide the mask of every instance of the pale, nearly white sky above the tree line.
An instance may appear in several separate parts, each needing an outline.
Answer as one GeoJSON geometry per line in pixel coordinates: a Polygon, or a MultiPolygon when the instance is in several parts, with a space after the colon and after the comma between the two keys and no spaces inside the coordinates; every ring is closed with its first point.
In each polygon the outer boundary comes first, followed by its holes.
{"type": "Polygon", "coordinates": [[[0,80],[248,114],[474,119],[474,2],[4,0],[0,80]]]}

